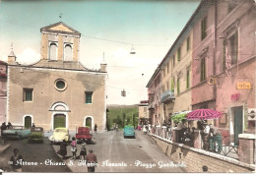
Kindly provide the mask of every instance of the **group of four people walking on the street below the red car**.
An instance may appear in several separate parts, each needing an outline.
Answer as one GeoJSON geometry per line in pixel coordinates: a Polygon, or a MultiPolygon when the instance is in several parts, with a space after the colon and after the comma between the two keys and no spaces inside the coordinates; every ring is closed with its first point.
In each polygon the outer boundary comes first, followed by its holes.
{"type": "MultiPolygon", "coordinates": [[[[63,159],[65,159],[66,155],[67,155],[67,146],[69,146],[69,144],[65,140],[63,140],[63,142],[60,143],[60,149],[57,151],[57,153],[60,154],[63,159]]],[[[70,146],[71,146],[71,152],[72,152],[72,159],[76,160],[78,146],[77,146],[75,137],[72,138],[72,142],[71,142],[70,146]]],[[[88,172],[95,172],[97,158],[96,158],[96,154],[94,153],[93,149],[90,148],[89,153],[87,153],[86,144],[83,143],[81,146],[79,155],[80,155],[80,161],[86,161],[87,166],[88,166],[88,172]]]]}

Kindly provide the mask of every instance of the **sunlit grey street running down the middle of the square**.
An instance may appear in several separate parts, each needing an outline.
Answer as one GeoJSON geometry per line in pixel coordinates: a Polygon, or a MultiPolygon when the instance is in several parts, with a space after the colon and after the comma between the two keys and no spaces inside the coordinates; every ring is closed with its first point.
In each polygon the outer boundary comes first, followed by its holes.
{"type": "MultiPolygon", "coordinates": [[[[93,148],[97,155],[96,172],[183,172],[181,168],[170,167],[171,160],[160,151],[160,148],[148,136],[136,131],[136,139],[124,139],[123,132],[105,132],[94,135],[96,145],[87,145],[87,150],[93,148]],[[159,162],[168,163],[169,167],[161,167],[159,162]],[[115,164],[113,164],[115,163],[115,164]],[[117,164],[119,163],[119,164],[117,164]],[[137,166],[136,166],[136,163],[137,166]],[[121,165],[121,166],[120,166],[121,165]]],[[[79,155],[80,145],[78,146],[79,155]]],[[[54,146],[55,150],[59,146],[54,146]]],[[[68,156],[71,155],[70,146],[68,156]]],[[[87,172],[87,166],[79,165],[79,159],[65,160],[73,172],[87,172]]]]}

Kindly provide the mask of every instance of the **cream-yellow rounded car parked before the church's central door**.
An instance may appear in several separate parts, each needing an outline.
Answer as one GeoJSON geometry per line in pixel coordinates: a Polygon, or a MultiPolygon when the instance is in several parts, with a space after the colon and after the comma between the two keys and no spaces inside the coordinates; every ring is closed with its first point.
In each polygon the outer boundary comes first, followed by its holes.
{"type": "Polygon", "coordinates": [[[69,130],[66,128],[56,128],[53,132],[53,135],[49,137],[51,144],[61,143],[63,140],[69,142],[69,139],[69,130]]]}

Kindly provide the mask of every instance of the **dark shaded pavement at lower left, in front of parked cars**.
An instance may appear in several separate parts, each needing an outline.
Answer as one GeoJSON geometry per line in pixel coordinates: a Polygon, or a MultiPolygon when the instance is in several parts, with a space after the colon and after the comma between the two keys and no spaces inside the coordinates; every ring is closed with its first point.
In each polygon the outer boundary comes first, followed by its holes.
{"type": "Polygon", "coordinates": [[[0,157],[2,166],[8,166],[8,161],[13,154],[13,149],[14,147],[17,147],[25,161],[31,163],[37,162],[37,165],[24,165],[23,172],[71,172],[65,165],[53,165],[52,163],[47,163],[48,165],[45,164],[45,161],[47,160],[51,160],[52,162],[62,162],[50,145],[48,138],[44,138],[43,144],[28,144],[27,139],[21,141],[12,140],[8,141],[8,143],[11,144],[11,147],[0,157]]]}

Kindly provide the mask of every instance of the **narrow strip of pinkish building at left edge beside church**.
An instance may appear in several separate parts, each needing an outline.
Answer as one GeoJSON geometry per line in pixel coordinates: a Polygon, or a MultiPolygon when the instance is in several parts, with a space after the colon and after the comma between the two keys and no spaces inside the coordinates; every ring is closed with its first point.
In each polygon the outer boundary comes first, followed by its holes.
{"type": "Polygon", "coordinates": [[[7,103],[7,63],[0,61],[0,123],[6,120],[6,103],[7,103]]]}

